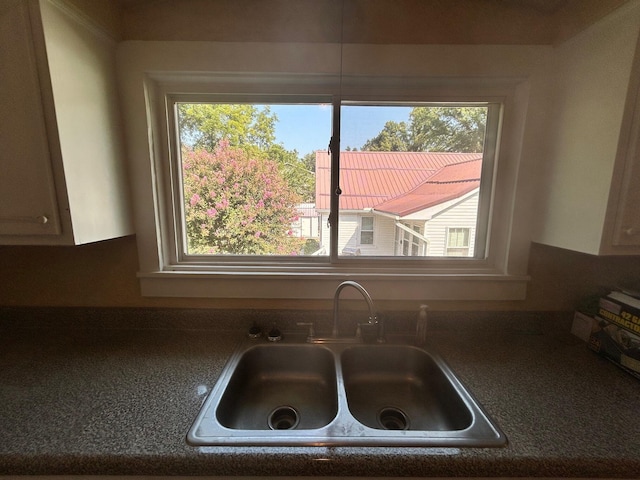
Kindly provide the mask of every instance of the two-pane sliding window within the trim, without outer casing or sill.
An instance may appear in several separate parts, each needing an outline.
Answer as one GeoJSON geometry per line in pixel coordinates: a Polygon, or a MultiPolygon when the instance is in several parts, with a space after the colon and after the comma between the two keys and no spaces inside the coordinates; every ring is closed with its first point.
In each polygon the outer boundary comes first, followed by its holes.
{"type": "MultiPolygon", "coordinates": [[[[415,259],[427,256],[423,245],[432,240],[422,234],[421,223],[438,216],[441,223],[488,222],[478,215],[478,202],[463,199],[480,189],[483,171],[483,200],[490,198],[495,145],[485,149],[485,139],[499,136],[498,123],[489,118],[499,115],[498,104],[201,98],[168,97],[175,129],[171,191],[178,199],[178,261],[327,257],[332,230],[338,256],[415,259]],[[336,117],[340,132],[332,132],[336,117]],[[487,128],[493,130],[489,135],[487,128]],[[340,140],[326,151],[322,145],[332,136],[340,140]],[[331,204],[335,190],[337,211],[331,204]],[[327,219],[335,215],[337,225],[327,221],[323,234],[302,236],[305,205],[327,219]],[[380,216],[376,244],[374,216],[363,210],[380,216]],[[399,251],[397,232],[404,237],[399,251]]],[[[483,239],[477,243],[484,245],[483,239]]],[[[448,245],[439,255],[459,256],[458,250],[448,245]]],[[[476,252],[478,258],[485,254],[482,248],[476,252]]]]}

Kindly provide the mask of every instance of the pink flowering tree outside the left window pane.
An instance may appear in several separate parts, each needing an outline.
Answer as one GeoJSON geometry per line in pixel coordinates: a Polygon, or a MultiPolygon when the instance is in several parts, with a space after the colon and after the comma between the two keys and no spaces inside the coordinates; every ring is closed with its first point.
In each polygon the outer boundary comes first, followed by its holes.
{"type": "Polygon", "coordinates": [[[191,254],[295,255],[292,236],[300,197],[276,162],[252,158],[221,141],[182,152],[185,219],[191,254]]]}

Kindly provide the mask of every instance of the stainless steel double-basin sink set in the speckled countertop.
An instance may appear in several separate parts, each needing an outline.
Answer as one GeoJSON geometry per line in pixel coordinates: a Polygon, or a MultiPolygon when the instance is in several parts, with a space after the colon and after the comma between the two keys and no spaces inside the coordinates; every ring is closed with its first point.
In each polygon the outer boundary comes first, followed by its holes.
{"type": "Polygon", "coordinates": [[[246,341],[225,366],[187,441],[497,447],[507,440],[427,349],[246,341]]]}

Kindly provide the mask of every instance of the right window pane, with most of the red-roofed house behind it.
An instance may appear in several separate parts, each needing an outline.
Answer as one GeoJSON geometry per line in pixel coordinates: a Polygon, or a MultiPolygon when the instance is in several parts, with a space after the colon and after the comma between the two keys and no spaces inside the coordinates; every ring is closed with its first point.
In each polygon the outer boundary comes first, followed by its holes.
{"type": "Polygon", "coordinates": [[[376,244],[362,256],[447,256],[447,231],[460,225],[464,256],[473,256],[488,111],[343,104],[338,253],[355,247],[366,216],[375,218],[376,244]]]}

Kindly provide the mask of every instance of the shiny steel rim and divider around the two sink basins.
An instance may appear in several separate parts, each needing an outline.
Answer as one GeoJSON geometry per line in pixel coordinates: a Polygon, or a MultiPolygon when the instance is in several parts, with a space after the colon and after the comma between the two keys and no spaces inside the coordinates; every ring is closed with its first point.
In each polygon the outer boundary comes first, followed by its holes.
{"type": "Polygon", "coordinates": [[[504,447],[507,438],[480,403],[460,382],[447,363],[431,348],[417,347],[403,337],[384,345],[323,343],[308,344],[304,337],[287,337],[285,341],[268,343],[245,339],[234,350],[196,416],[186,436],[192,446],[405,446],[405,447],[504,447]],[[337,391],[337,413],[333,420],[320,428],[302,430],[245,430],[221,425],[216,416],[220,399],[245,352],[253,347],[283,348],[303,345],[312,349],[326,349],[334,359],[337,391]],[[382,430],[359,422],[348,407],[341,354],[349,348],[385,348],[400,346],[425,352],[451,382],[456,393],[469,409],[472,420],[462,430],[382,430]]]}

